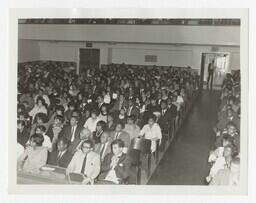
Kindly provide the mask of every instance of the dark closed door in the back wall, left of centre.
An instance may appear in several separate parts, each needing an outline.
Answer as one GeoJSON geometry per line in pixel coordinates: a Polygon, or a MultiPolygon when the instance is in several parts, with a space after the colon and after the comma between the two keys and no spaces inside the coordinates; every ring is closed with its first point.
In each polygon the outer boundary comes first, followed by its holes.
{"type": "Polygon", "coordinates": [[[99,68],[100,49],[79,49],[79,73],[88,68],[99,68]]]}

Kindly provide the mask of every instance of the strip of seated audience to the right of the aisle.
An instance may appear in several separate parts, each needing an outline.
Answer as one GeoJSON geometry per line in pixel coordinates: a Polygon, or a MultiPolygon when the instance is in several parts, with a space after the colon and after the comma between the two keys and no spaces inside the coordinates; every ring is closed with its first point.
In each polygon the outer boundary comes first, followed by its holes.
{"type": "Polygon", "coordinates": [[[223,81],[216,142],[210,152],[209,185],[238,185],[240,177],[240,71],[227,74],[223,81]]]}

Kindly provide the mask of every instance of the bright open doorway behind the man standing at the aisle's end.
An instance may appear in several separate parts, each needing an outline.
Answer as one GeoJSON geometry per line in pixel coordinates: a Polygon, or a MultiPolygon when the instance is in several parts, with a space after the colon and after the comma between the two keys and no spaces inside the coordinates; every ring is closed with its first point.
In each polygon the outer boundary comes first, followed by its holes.
{"type": "MultiPolygon", "coordinates": [[[[221,89],[226,73],[229,72],[229,53],[202,53],[200,89],[207,88],[208,66],[214,60],[213,89],[221,89]]],[[[210,84],[209,84],[210,86],[210,84]]]]}

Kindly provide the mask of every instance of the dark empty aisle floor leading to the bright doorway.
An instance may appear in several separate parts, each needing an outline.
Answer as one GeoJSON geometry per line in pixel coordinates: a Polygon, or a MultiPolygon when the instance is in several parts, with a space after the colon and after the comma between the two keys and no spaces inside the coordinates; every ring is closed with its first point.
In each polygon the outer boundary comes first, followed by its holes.
{"type": "Polygon", "coordinates": [[[202,185],[214,142],[212,126],[217,119],[219,92],[204,91],[195,102],[176,140],[166,151],[149,185],[202,185]]]}

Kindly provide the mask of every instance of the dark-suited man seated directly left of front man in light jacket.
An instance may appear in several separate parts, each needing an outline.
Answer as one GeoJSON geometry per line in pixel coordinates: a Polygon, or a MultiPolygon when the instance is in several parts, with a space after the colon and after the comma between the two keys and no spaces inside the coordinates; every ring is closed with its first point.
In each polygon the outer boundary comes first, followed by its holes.
{"type": "Polygon", "coordinates": [[[72,154],[68,151],[69,141],[62,137],[57,142],[57,150],[50,153],[48,164],[67,168],[72,159],[72,154]]]}

